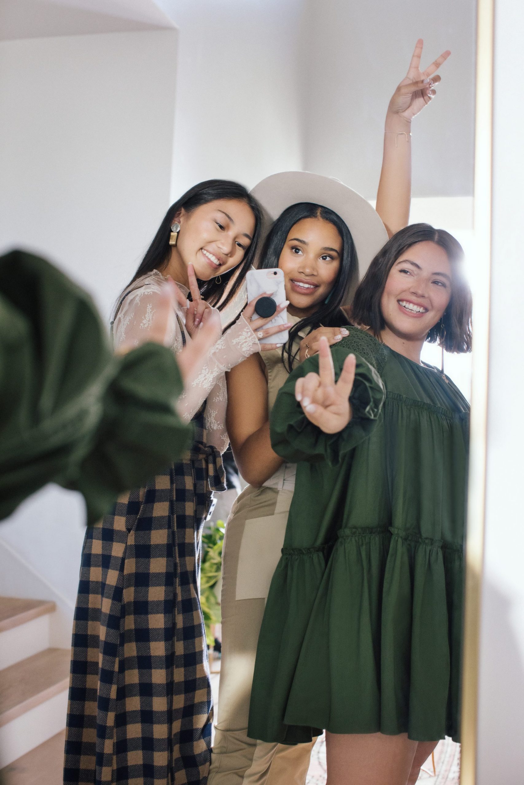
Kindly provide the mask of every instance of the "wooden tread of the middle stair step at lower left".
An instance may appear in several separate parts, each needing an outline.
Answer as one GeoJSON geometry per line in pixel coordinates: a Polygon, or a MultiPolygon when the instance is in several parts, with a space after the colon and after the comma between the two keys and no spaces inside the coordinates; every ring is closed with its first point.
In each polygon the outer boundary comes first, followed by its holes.
{"type": "Polygon", "coordinates": [[[46,648],[0,670],[0,727],[68,688],[71,652],[46,648]]]}

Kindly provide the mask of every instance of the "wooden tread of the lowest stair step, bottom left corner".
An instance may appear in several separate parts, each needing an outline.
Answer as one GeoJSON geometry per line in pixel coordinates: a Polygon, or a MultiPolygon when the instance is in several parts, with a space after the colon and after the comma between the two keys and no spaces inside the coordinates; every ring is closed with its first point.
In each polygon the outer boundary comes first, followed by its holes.
{"type": "Polygon", "coordinates": [[[62,785],[65,731],[0,770],[2,785],[62,785]]]}

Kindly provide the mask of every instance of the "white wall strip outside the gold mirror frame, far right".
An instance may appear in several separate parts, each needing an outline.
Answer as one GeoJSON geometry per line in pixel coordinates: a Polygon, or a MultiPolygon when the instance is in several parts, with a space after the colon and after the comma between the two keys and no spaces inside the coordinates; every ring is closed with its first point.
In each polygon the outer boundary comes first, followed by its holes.
{"type": "Polygon", "coordinates": [[[524,781],[524,418],[522,400],[522,101],[524,8],[497,0],[495,21],[493,268],[489,349],[486,552],[478,721],[478,785],[524,781]]]}

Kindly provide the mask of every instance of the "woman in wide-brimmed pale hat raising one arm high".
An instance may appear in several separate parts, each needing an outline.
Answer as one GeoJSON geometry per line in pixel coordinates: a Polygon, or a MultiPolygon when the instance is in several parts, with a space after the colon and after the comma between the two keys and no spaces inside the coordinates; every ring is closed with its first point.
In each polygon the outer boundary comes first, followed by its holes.
{"type": "Polygon", "coordinates": [[[313,743],[287,746],[247,737],[258,633],[295,487],[295,465],[271,449],[269,412],[292,367],[317,352],[321,336],[330,343],[343,338],[347,318],[341,306],[350,301],[388,234],[408,222],[410,123],[434,95],[440,77],[433,75],[449,56],[442,54],[420,71],[421,53],[419,41],[408,75],[390,100],[378,214],[339,181],[306,172],[267,177],[252,192],[275,221],[259,266],[284,270],[293,327],[284,349],[252,355],[227,378],[227,429],[250,485],[226,527],[222,672],[209,785],[303,785],[306,780],[313,743]]]}

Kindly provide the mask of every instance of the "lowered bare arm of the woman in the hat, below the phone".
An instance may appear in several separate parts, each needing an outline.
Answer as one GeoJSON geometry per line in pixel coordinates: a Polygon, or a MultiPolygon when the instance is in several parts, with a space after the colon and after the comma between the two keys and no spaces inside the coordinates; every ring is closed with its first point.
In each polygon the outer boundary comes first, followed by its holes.
{"type": "Polygon", "coordinates": [[[271,448],[266,374],[257,355],[237,365],[226,376],[227,430],[236,466],[247,483],[259,487],[283,460],[271,448]]]}

